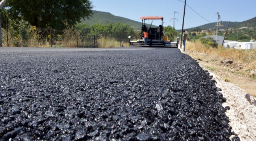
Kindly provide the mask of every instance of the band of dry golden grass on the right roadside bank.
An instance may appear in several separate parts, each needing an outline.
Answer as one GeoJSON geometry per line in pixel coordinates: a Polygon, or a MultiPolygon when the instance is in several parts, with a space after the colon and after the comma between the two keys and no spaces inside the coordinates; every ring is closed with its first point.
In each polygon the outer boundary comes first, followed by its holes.
{"type": "Polygon", "coordinates": [[[186,50],[207,53],[218,61],[234,60],[243,65],[244,71],[256,71],[256,50],[212,48],[200,42],[186,42],[186,50]]]}

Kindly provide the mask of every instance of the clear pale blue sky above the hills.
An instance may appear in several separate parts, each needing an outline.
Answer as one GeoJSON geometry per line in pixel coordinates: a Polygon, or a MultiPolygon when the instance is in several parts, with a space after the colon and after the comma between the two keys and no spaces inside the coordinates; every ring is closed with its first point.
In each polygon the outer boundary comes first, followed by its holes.
{"type": "MultiPolygon", "coordinates": [[[[182,29],[185,0],[180,1],[91,0],[95,6],[93,10],[108,12],[115,16],[121,16],[138,22],[141,22],[141,16],[163,16],[164,26],[171,25],[173,27],[173,20],[171,19],[174,18],[174,11],[176,11],[179,13],[176,14],[176,18],[179,20],[175,20],[175,29],[182,29]]],[[[256,17],[254,10],[256,0],[187,0],[187,5],[184,29],[217,22],[217,12],[220,13],[222,21],[243,22],[256,17]],[[187,5],[200,14],[200,16],[187,5]]],[[[146,22],[149,23],[148,21],[146,22]]],[[[157,20],[153,21],[153,25],[160,24],[161,22],[157,22],[157,20]]]]}

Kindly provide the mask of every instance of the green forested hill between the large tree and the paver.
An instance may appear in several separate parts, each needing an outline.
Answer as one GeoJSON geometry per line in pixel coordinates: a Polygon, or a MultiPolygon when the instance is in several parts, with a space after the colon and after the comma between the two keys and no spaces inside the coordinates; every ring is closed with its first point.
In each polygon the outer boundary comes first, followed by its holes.
{"type": "MultiPolygon", "coordinates": [[[[120,22],[122,24],[128,24],[130,27],[134,27],[134,30],[136,30],[136,31],[141,30],[141,22],[130,20],[128,18],[123,18],[120,16],[115,16],[111,13],[100,12],[100,11],[95,11],[95,10],[93,10],[93,17],[90,20],[82,19],[81,22],[86,23],[88,25],[92,25],[95,23],[108,25],[110,23],[115,24],[117,22],[120,22]]],[[[149,24],[146,24],[146,25],[150,26],[149,24]]],[[[152,25],[152,27],[156,27],[156,25],[152,25]]]]}

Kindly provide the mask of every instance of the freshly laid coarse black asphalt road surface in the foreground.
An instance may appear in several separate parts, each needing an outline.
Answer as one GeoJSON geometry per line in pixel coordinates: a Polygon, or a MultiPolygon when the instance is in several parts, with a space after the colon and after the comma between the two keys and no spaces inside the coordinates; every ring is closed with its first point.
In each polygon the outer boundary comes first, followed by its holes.
{"type": "Polygon", "coordinates": [[[0,139],[228,141],[215,83],[179,49],[0,48],[0,139]]]}

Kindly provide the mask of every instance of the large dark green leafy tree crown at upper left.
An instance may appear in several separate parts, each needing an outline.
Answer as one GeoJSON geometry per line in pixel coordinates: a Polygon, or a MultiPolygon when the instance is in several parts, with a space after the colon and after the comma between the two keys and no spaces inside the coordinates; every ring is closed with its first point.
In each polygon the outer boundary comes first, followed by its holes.
{"type": "Polygon", "coordinates": [[[65,29],[62,21],[74,25],[93,15],[90,0],[7,0],[5,7],[11,19],[24,17],[31,25],[42,28],[65,29]]]}

